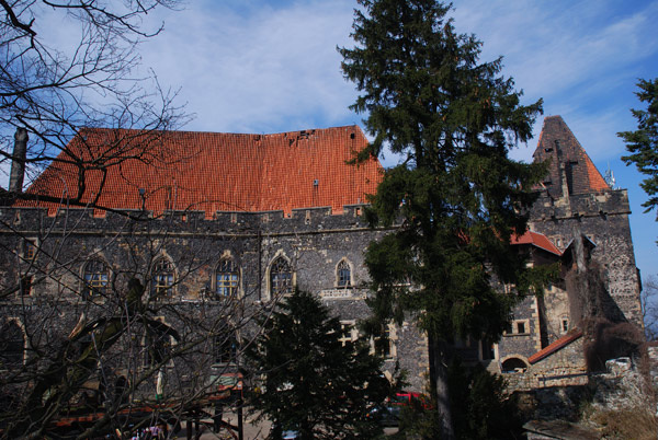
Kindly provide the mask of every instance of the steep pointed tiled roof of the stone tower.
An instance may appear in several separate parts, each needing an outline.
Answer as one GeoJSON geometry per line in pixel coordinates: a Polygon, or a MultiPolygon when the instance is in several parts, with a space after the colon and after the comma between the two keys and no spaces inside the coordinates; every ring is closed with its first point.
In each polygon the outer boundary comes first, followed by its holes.
{"type": "Polygon", "coordinates": [[[547,116],[533,153],[535,161],[551,161],[544,186],[554,197],[563,196],[563,171],[570,194],[610,189],[576,136],[560,116],[547,116]]]}

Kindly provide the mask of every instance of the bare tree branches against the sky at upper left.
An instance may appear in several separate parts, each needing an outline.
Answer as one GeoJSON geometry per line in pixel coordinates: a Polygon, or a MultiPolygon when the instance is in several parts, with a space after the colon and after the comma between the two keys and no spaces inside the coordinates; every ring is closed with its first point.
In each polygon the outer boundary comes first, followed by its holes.
{"type": "MultiPolygon", "coordinates": [[[[144,135],[177,127],[185,115],[173,102],[175,93],[161,90],[155,74],[135,78],[140,60],[137,47],[162,31],[161,24],[146,24],[147,14],[157,8],[175,8],[178,3],[0,0],[3,167],[8,169],[13,157],[16,128],[26,129],[30,138],[25,158],[16,158],[24,162],[29,177],[53,161],[73,165],[84,176],[131,158],[147,157],[154,142],[144,135]],[[48,32],[54,23],[65,31],[48,32]],[[60,34],[77,39],[52,40],[53,35],[60,34]],[[89,127],[136,128],[140,140],[116,139],[104,149],[87,148],[88,154],[69,152],[71,138],[89,127]],[[63,151],[66,154],[60,154],[63,151]]],[[[80,140],[86,141],[83,137],[80,140]]],[[[80,185],[67,194],[69,204],[80,205],[83,178],[80,185]]]]}

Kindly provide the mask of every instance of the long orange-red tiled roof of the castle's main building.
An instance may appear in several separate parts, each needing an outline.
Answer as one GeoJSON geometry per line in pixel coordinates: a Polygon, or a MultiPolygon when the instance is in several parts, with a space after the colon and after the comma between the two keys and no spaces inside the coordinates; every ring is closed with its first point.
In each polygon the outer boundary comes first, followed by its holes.
{"type": "MultiPolygon", "coordinates": [[[[36,178],[31,194],[93,200],[114,209],[266,211],[365,202],[382,180],[375,159],[348,165],[367,139],[358,126],[275,135],[86,129],[36,178]],[[99,170],[78,177],[77,158],[99,170]],[[67,163],[68,162],[68,163],[67,163]],[[71,163],[72,162],[72,163],[71,163]],[[144,188],[144,199],[139,189],[144,188]]],[[[52,202],[22,202],[55,207],[52,202]]]]}

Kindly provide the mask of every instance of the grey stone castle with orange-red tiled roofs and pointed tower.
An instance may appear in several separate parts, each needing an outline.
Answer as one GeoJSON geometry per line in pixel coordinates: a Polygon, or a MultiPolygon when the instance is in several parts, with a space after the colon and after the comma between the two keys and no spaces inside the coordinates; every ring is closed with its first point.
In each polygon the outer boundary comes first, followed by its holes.
{"type": "MultiPolygon", "coordinates": [[[[146,286],[145,301],[183,339],[208,331],[200,324],[208,316],[230,323],[234,336],[204,351],[212,368],[237,362],[248,317],[294,287],[340,316],[344,344],[359,338],[358,322],[370,313],[363,252],[387,232],[362,217],[381,164],[345,163],[366,142],[356,126],[276,135],[81,131],[29,197],[0,208],[4,358],[25,364],[56,334],[68,335],[82,313],[102,313],[125,294],[131,278],[146,286]],[[81,173],[82,162],[94,166],[81,173]]],[[[626,190],[609,186],[559,116],[545,118],[534,160],[549,160],[549,173],[530,230],[513,243],[530,248],[529,264],[565,268],[576,264],[571,250],[583,247],[605,274],[606,315],[642,326],[626,190]]],[[[572,296],[563,278],[524,298],[499,341],[458,348],[521,389],[582,383],[572,296]]],[[[387,335],[388,370],[399,362],[410,387],[422,390],[426,337],[411,319],[390,324],[387,335]]],[[[144,364],[154,358],[135,350],[144,364]]]]}

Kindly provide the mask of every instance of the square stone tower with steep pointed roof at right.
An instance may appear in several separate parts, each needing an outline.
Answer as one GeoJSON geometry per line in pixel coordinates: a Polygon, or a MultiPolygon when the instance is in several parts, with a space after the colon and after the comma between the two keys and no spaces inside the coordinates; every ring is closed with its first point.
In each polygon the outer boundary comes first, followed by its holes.
{"type": "Polygon", "coordinates": [[[606,311],[642,327],[640,281],[635,266],[626,189],[613,189],[560,116],[548,116],[535,161],[549,161],[542,194],[531,215],[531,229],[566,251],[583,236],[591,258],[603,269],[610,302],[606,311]]]}

